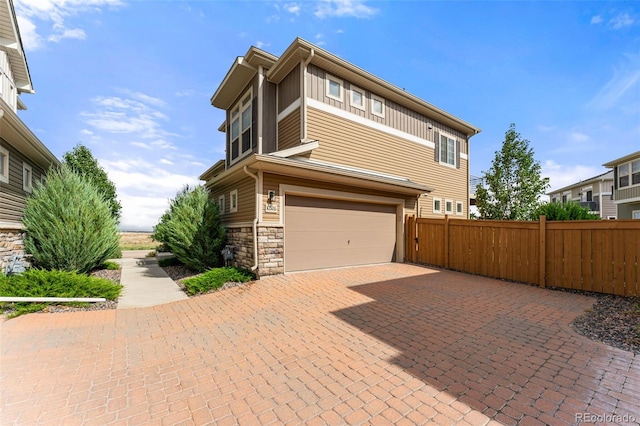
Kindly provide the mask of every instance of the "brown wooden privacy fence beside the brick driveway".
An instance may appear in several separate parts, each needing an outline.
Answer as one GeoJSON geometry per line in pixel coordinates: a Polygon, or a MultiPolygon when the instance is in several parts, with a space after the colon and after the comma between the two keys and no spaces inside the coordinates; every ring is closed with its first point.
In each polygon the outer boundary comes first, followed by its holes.
{"type": "Polygon", "coordinates": [[[487,277],[640,296],[640,221],[405,218],[406,261],[487,277]]]}

